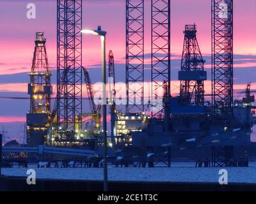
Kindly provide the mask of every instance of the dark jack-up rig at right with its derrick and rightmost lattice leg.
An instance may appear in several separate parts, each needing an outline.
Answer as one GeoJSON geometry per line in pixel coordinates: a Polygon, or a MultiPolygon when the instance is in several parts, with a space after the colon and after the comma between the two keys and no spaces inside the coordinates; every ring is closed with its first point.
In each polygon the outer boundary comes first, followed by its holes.
{"type": "Polygon", "coordinates": [[[225,2],[228,2],[228,19],[219,19],[216,13],[220,8],[215,1],[212,4],[212,38],[216,36],[216,41],[212,42],[213,110],[204,103],[206,73],[196,40],[196,27],[187,25],[179,72],[180,96],[168,96],[166,87],[163,98],[164,120],[151,119],[147,128],[133,132],[132,147],[140,148],[143,144],[156,153],[154,148],[161,149],[170,144],[172,150],[191,159],[212,159],[212,166],[248,166],[246,149],[255,124],[252,115],[254,98],[248,85],[246,98],[232,105],[232,1],[225,2]],[[218,30],[220,28],[223,29],[221,33],[218,30]],[[220,47],[225,48],[220,50],[220,47]]]}

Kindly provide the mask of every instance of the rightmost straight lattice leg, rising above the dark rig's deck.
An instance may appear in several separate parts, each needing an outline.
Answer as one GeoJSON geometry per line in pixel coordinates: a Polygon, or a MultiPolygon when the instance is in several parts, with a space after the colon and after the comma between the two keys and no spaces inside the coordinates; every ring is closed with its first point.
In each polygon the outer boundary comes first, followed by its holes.
{"type": "Polygon", "coordinates": [[[212,113],[233,115],[233,0],[212,0],[212,113]]]}

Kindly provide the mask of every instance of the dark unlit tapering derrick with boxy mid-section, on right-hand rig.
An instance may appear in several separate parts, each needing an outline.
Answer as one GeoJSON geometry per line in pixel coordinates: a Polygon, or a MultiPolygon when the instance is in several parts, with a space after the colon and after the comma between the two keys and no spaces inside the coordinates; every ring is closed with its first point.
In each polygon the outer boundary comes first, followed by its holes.
{"type": "Polygon", "coordinates": [[[196,39],[196,25],[186,25],[181,59],[180,102],[184,105],[204,105],[204,59],[196,39]]]}

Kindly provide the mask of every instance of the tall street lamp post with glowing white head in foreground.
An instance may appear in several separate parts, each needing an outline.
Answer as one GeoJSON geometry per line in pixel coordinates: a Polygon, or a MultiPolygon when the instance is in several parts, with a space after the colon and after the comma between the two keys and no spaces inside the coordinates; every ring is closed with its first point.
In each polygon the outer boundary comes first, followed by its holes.
{"type": "Polygon", "coordinates": [[[82,30],[81,33],[100,36],[102,50],[102,115],[103,115],[103,142],[104,142],[104,191],[108,191],[108,142],[107,142],[107,100],[106,100],[106,31],[101,27],[93,30],[82,30]]]}

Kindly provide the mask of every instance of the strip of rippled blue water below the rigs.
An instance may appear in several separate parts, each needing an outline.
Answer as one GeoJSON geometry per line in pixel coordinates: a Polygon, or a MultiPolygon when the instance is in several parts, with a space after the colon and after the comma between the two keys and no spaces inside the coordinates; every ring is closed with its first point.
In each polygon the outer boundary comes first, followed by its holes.
{"type": "MultiPolygon", "coordinates": [[[[34,169],[38,179],[102,180],[102,168],[4,168],[3,175],[27,177],[34,169]]],[[[228,182],[256,184],[256,163],[239,168],[195,168],[195,163],[172,163],[172,168],[115,168],[109,166],[109,180],[164,181],[164,182],[218,182],[219,171],[228,172],[228,182]]]]}

